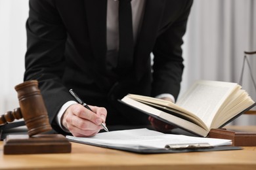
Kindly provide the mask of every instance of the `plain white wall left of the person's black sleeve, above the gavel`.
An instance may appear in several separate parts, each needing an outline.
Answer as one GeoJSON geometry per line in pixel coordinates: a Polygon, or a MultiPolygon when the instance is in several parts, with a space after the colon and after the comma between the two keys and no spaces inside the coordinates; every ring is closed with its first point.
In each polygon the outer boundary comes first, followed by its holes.
{"type": "Polygon", "coordinates": [[[0,0],[0,114],[18,107],[23,82],[28,0],[0,0]]]}

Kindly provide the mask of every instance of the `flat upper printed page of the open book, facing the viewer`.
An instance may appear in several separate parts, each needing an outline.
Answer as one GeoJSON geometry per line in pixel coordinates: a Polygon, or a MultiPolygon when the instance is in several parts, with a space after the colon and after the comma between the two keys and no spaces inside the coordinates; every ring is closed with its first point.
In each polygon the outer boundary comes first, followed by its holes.
{"type": "Polygon", "coordinates": [[[177,105],[200,117],[210,127],[215,113],[236,89],[232,82],[198,81],[177,101],[177,105]]]}

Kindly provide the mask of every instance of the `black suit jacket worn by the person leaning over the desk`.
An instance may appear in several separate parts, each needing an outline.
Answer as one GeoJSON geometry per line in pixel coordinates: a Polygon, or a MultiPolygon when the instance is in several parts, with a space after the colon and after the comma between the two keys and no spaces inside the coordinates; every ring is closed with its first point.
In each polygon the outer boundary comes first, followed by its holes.
{"type": "MultiPolygon", "coordinates": [[[[116,73],[115,78],[106,71],[106,5],[106,0],[30,0],[24,80],[39,81],[53,126],[60,107],[74,99],[70,88],[89,105],[107,109],[121,109],[116,101],[127,93],[179,94],[182,36],[192,1],[146,0],[133,69],[126,75],[116,73]]],[[[120,122],[116,117],[126,109],[108,111],[107,124],[120,122]]],[[[131,122],[146,121],[135,120],[131,112],[124,114],[131,122]]]]}

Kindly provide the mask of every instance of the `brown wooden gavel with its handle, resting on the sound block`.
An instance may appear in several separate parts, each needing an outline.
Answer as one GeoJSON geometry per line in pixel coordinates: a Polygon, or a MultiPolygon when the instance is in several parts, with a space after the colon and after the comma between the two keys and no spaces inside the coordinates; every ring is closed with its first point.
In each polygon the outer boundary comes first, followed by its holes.
{"type": "Polygon", "coordinates": [[[0,125],[24,118],[30,137],[50,131],[52,128],[37,80],[23,82],[14,88],[18,93],[20,107],[3,114],[0,117],[0,125]]]}

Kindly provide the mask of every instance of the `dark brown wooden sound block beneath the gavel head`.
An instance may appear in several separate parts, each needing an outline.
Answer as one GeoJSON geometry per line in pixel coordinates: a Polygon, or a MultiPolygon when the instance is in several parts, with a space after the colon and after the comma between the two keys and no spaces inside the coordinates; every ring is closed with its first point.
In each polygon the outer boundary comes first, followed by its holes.
{"type": "Polygon", "coordinates": [[[71,143],[59,134],[7,135],[4,140],[4,154],[52,154],[70,153],[71,143]]]}

